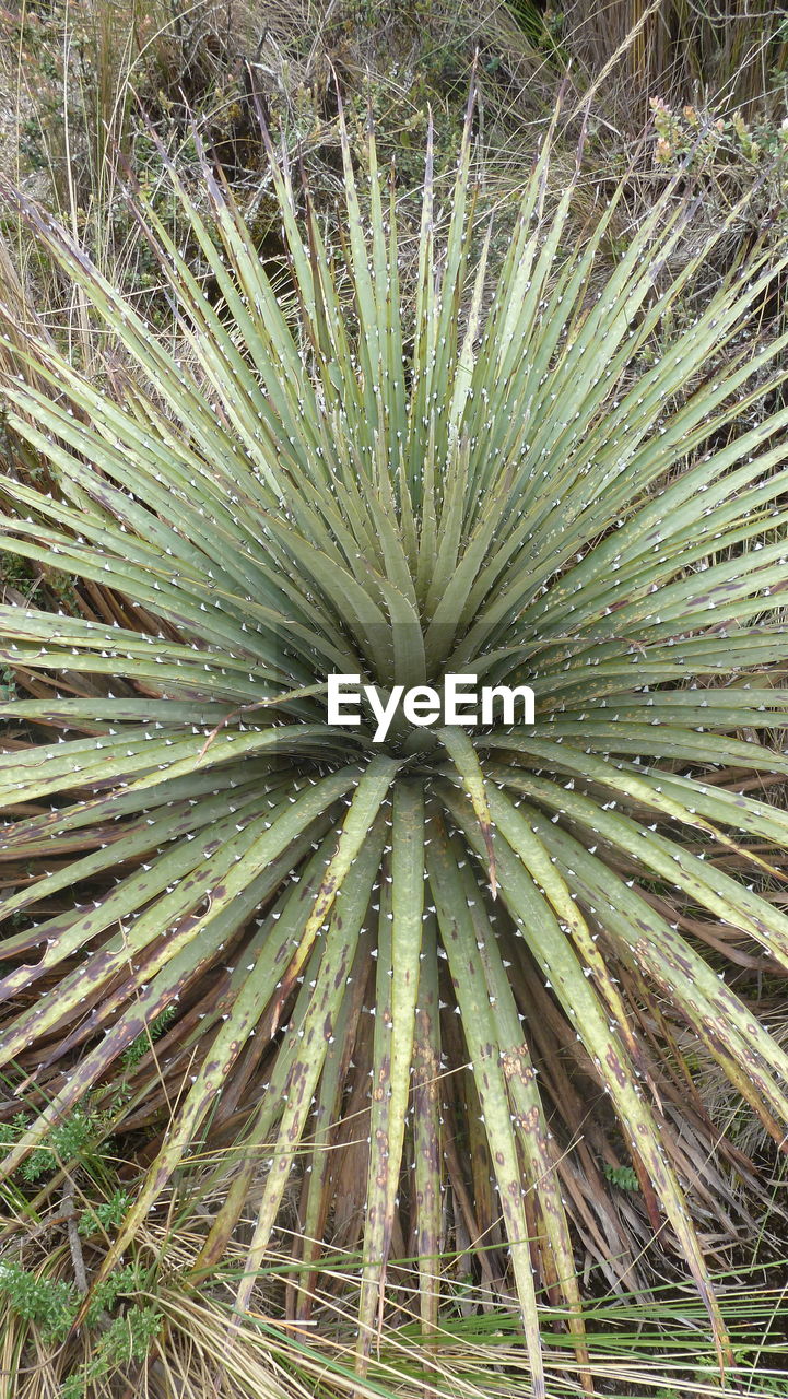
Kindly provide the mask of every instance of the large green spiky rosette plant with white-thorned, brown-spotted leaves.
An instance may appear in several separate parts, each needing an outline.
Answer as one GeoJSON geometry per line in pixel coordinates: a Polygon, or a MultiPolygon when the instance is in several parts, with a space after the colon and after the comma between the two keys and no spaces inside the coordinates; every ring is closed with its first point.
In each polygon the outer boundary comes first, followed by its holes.
{"type": "Polygon", "coordinates": [[[248,1304],[298,1157],[297,1312],[322,1241],[361,1238],[361,1364],[392,1256],[418,1256],[435,1325],[452,1219],[481,1277],[514,1281],[537,1393],[537,1290],[582,1353],[574,1247],[631,1277],[648,1228],[722,1354],[693,1209],[726,1172],[676,1041],[689,1028],[781,1140],[787,1058],[714,958],[788,963],[788,919],[754,887],[788,818],[725,781],[788,771],[757,741],[784,715],[788,410],[742,425],[784,378],[788,337],[747,327],[787,259],[756,248],[669,339],[714,239],[666,274],[691,218],[672,185],[595,292],[621,192],[567,252],[572,187],[547,217],[546,144],[487,302],[469,123],[439,256],[428,152],[410,336],[374,140],[365,218],[343,136],[339,259],[270,154],[295,329],[207,162],[211,228],[171,176],[213,301],[137,201],[169,350],[20,201],[126,368],[109,392],[29,339],[50,392],[7,386],[59,491],[7,481],[3,547],[84,586],[81,614],[1,611],[31,695],[3,706],[4,855],[24,870],[3,1062],[46,1102],[6,1170],[111,1094],[176,1003],[122,1108],[161,1136],[106,1267],[210,1122],[238,1149],[203,1266],[265,1163],[248,1304]],[[329,725],[335,673],[530,684],[536,722],[397,722],[381,744],[368,713],[329,725]],[[626,1165],[648,1220],[610,1200],[603,1168],[626,1165]]]}

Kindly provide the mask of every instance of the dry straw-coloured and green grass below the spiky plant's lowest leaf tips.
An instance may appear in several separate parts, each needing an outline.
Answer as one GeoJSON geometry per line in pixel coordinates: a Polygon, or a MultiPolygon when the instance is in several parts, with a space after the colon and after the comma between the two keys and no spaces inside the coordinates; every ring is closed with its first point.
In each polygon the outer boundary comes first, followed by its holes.
{"type": "MultiPolygon", "coordinates": [[[[181,1191],[164,1198],[134,1240],[129,1255],[137,1269],[133,1286],[90,1326],[46,1339],[41,1323],[25,1321],[10,1294],[0,1288],[0,1395],[3,1399],[528,1399],[530,1375],[515,1315],[484,1288],[463,1281],[460,1259],[437,1260],[448,1284],[438,1329],[428,1343],[418,1336],[417,1304],[407,1300],[409,1274],[402,1273],[402,1309],[374,1337],[370,1372],[354,1372],[356,1335],[347,1297],[358,1284],[360,1260],[335,1249],[326,1259],[312,1321],[293,1321],[287,1305],[287,1231],[283,1252],[269,1252],[249,1312],[237,1316],[232,1297],[244,1265],[242,1241],[231,1245],[220,1273],[200,1280],[195,1263],[204,1240],[210,1181],[218,1161],[195,1158],[181,1191]],[[453,1281],[452,1281],[453,1280],[453,1281]],[[342,1302],[337,1300],[342,1291],[342,1302]],[[141,1308],[155,1315],[147,1357],[127,1360],[116,1346],[116,1363],[101,1365],[102,1346],[115,1326],[129,1337],[141,1308]],[[66,1388],[64,1388],[66,1386],[66,1388]],[[73,1386],[71,1389],[69,1386],[73,1386]]],[[[90,1195],[85,1177],[74,1199],[90,1195]]],[[[59,1207],[62,1181],[39,1223],[7,1200],[0,1217],[3,1266],[21,1263],[49,1283],[70,1283],[74,1254],[59,1207]]],[[[102,1252],[101,1240],[84,1244],[90,1273],[102,1252]]],[[[736,1367],[721,1382],[700,1302],[689,1294],[656,1288],[602,1297],[589,1305],[593,1395],[628,1399],[733,1399],[747,1393],[785,1392],[781,1336],[787,1322],[784,1287],[773,1269],[718,1279],[732,1328],[736,1367]],[[732,1284],[736,1283],[733,1288],[732,1284]]],[[[0,1274],[1,1281],[1,1274],[0,1274]]],[[[582,1393],[578,1367],[563,1335],[560,1314],[544,1307],[547,1372],[553,1396],[582,1393]]]]}

